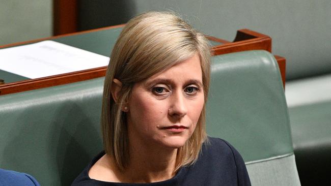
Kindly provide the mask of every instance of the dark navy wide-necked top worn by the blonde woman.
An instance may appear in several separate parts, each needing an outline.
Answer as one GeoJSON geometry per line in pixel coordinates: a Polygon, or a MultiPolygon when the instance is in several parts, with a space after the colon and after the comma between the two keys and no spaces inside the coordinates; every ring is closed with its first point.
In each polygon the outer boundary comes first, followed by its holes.
{"type": "Polygon", "coordinates": [[[163,185],[251,185],[245,164],[239,152],[227,141],[209,138],[204,144],[201,154],[194,165],[182,167],[177,174],[168,180],[153,183],[118,183],[91,179],[88,172],[103,155],[98,154],[73,181],[72,186],[163,186],[163,185]]]}

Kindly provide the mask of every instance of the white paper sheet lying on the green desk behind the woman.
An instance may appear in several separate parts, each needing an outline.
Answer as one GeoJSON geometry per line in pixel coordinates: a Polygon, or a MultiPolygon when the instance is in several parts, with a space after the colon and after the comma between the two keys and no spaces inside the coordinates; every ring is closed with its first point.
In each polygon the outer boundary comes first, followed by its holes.
{"type": "Polygon", "coordinates": [[[0,69],[40,78],[107,66],[109,57],[54,41],[0,50],[0,69]]]}

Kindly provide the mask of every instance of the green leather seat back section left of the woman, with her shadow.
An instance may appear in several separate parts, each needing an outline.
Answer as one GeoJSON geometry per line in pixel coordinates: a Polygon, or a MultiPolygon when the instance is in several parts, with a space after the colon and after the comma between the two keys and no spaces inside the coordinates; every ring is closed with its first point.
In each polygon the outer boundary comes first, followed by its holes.
{"type": "Polygon", "coordinates": [[[0,167],[70,185],[102,150],[103,78],[0,96],[0,167]]]}

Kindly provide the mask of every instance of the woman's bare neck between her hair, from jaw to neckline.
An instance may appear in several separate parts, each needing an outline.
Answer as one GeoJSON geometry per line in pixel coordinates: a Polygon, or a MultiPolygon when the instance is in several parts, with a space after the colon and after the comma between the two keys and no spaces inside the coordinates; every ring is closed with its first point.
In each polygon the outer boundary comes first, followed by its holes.
{"type": "Polygon", "coordinates": [[[130,161],[124,170],[123,182],[157,182],[170,179],[175,175],[177,149],[157,145],[130,142],[130,161]]]}

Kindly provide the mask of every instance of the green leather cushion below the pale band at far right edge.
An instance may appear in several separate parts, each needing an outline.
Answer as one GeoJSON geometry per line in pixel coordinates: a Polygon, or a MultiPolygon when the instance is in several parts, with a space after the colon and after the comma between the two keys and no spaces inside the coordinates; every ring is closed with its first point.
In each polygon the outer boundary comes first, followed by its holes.
{"type": "Polygon", "coordinates": [[[298,173],[304,185],[330,185],[331,101],[289,108],[298,173]]]}

